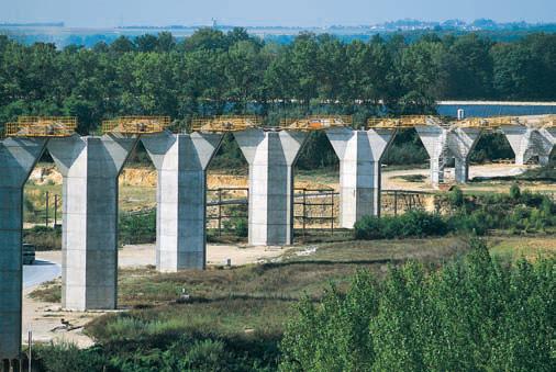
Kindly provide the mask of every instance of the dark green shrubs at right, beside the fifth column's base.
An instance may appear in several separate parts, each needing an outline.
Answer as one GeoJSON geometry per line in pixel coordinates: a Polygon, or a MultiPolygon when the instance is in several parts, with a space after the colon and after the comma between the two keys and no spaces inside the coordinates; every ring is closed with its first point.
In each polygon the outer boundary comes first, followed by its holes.
{"type": "MultiPolygon", "coordinates": [[[[444,196],[449,213],[410,211],[399,216],[365,216],[355,224],[357,239],[392,239],[487,235],[490,230],[512,234],[552,233],[556,226],[556,203],[545,194],[521,192],[514,184],[509,194],[485,193],[466,198],[459,188],[444,196]]],[[[441,201],[442,204],[442,201],[441,201]]]]}

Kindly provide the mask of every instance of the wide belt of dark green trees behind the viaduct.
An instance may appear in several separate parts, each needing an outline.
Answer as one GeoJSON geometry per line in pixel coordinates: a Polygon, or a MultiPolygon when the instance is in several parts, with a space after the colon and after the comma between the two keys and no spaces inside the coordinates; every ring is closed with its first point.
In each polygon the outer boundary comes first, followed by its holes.
{"type": "Polygon", "coordinates": [[[555,88],[555,34],[345,43],[302,33],[278,45],[243,29],[202,29],[181,42],[164,32],[62,50],[0,36],[0,123],[75,115],[84,134],[115,115],[334,112],[365,120],[382,105],[430,112],[437,99],[556,100],[555,88]]]}

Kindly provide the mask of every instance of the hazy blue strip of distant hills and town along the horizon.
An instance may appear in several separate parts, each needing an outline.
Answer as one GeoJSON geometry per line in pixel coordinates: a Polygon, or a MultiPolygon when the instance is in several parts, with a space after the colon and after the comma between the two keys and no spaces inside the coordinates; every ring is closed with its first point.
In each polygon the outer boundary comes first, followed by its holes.
{"type": "Polygon", "coordinates": [[[556,23],[527,23],[527,22],[508,22],[501,23],[488,19],[479,19],[472,22],[463,20],[438,21],[419,21],[419,20],[399,20],[385,22],[379,24],[362,24],[362,25],[323,25],[323,26],[242,26],[221,24],[218,20],[213,20],[211,24],[192,24],[192,25],[120,25],[113,27],[76,27],[67,26],[64,22],[46,22],[46,23],[1,23],[0,34],[5,34],[20,43],[33,44],[53,43],[57,47],[68,45],[82,45],[92,47],[98,42],[110,44],[121,35],[127,37],[136,37],[144,34],[157,34],[159,32],[169,31],[173,35],[180,40],[193,34],[202,27],[212,27],[223,32],[231,31],[235,27],[245,29],[249,34],[258,36],[268,42],[279,44],[290,43],[296,35],[302,32],[315,34],[333,34],[338,38],[349,42],[353,40],[368,41],[376,34],[385,37],[389,35],[402,33],[408,40],[418,38],[424,33],[453,34],[460,35],[464,33],[475,32],[483,34],[494,41],[509,42],[525,36],[531,33],[556,32],[556,23]]]}

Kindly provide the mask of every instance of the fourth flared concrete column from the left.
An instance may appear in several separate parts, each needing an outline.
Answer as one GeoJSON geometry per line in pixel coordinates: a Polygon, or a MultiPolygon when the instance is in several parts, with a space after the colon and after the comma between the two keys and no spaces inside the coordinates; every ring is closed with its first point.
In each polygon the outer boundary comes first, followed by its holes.
{"type": "Polygon", "coordinates": [[[290,245],[293,239],[292,167],[304,144],[303,132],[234,133],[249,164],[249,244],[290,245]]]}

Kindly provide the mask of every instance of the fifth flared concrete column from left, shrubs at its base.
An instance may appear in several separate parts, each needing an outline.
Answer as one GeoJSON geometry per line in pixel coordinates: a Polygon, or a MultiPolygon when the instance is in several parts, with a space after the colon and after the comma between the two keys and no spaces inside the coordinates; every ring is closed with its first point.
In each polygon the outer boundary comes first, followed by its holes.
{"type": "Polygon", "coordinates": [[[340,225],[353,228],[366,215],[380,215],[380,160],[396,129],[332,128],[329,140],[340,159],[340,225]]]}

